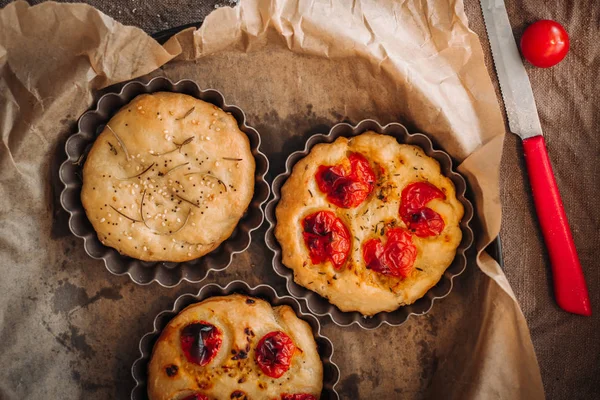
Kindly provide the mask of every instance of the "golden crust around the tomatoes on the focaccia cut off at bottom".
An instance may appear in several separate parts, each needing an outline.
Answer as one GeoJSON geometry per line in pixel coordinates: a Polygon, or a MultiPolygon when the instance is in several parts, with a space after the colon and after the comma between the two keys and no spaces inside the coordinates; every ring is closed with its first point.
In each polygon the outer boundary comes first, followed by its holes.
{"type": "Polygon", "coordinates": [[[237,294],[212,297],[179,313],[154,346],[148,373],[150,400],[172,400],[194,392],[210,399],[229,399],[235,391],[249,399],[280,399],[283,393],[318,398],[323,385],[323,365],[308,323],[289,306],[272,308],[264,300],[237,294]],[[188,362],[179,344],[181,330],[197,321],[214,324],[222,332],[219,352],[204,367],[188,362]],[[272,331],[285,332],[299,349],[280,378],[262,374],[255,361],[258,341],[272,331]],[[236,355],[244,351],[247,357],[236,357],[233,350],[236,355]],[[167,368],[173,365],[177,372],[169,376],[167,368]]]}

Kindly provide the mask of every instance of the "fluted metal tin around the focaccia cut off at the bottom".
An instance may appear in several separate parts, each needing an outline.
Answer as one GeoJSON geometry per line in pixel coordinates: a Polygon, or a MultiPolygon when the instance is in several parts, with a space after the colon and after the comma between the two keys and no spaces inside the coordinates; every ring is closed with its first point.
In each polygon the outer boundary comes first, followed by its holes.
{"type": "Polygon", "coordinates": [[[303,312],[300,308],[300,304],[293,297],[279,296],[275,289],[269,285],[250,287],[243,281],[232,281],[225,287],[211,283],[202,287],[198,294],[194,295],[188,293],[179,296],[170,310],[162,311],[154,318],[154,330],[145,334],[140,340],[140,357],[135,360],[131,367],[131,374],[136,382],[135,387],[131,391],[131,399],[148,399],[148,364],[150,362],[154,344],[167,324],[179,312],[191,304],[201,302],[209,297],[227,296],[233,293],[258,297],[268,301],[272,306],[288,305],[292,307],[298,318],[306,321],[310,325],[315,341],[317,342],[317,350],[321,356],[321,361],[323,362],[323,391],[321,393],[321,400],[339,400],[340,397],[335,390],[335,385],[340,379],[340,369],[331,359],[333,356],[333,343],[331,343],[331,340],[326,336],[321,334],[321,324],[319,323],[319,320],[314,315],[303,312]]]}

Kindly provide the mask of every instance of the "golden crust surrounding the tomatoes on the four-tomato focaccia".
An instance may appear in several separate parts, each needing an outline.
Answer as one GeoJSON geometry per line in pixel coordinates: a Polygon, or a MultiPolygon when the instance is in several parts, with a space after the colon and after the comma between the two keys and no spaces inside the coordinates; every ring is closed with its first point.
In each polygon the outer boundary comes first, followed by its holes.
{"type": "Polygon", "coordinates": [[[373,315],[411,304],[434,286],[452,263],[462,239],[460,220],[464,210],[457,200],[454,185],[440,172],[433,158],[416,146],[399,144],[391,136],[367,132],[352,139],[338,138],[331,144],[318,144],[294,166],[281,189],[276,208],[275,236],[281,244],[282,261],[294,271],[296,283],[319,293],[342,311],[373,315]],[[315,173],[320,165],[340,163],[349,152],[364,155],[378,175],[373,192],[358,207],[341,209],[330,204],[319,190],[315,173]],[[399,218],[402,189],[415,181],[428,181],[446,194],[427,207],[438,212],[445,222],[436,237],[413,236],[418,256],[415,269],[406,279],[389,277],[366,268],[362,243],[381,237],[384,223],[399,218]],[[351,232],[352,249],[346,263],[336,271],[330,262],[312,265],[302,237],[302,219],[309,213],[329,209],[337,214],[351,232]]]}

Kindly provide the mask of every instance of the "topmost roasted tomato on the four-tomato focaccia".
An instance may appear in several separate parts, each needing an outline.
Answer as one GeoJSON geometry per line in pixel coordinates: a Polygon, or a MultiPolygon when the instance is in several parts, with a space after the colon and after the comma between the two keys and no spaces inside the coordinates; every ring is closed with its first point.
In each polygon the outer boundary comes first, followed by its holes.
{"type": "Polygon", "coordinates": [[[358,153],[350,154],[341,164],[321,165],[316,179],[327,200],[342,208],[359,206],[375,185],[375,173],[369,161],[358,153]]]}

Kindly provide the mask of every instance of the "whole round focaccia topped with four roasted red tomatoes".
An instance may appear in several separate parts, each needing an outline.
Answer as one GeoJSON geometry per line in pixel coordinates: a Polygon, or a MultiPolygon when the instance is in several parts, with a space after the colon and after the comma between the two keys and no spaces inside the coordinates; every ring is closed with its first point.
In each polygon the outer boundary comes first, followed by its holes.
{"type": "Polygon", "coordinates": [[[373,315],[421,298],[452,263],[463,206],[436,160],[367,132],[318,144],[281,189],[275,236],[296,283],[373,315]]]}

